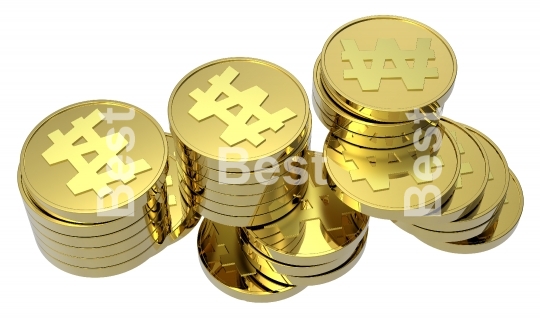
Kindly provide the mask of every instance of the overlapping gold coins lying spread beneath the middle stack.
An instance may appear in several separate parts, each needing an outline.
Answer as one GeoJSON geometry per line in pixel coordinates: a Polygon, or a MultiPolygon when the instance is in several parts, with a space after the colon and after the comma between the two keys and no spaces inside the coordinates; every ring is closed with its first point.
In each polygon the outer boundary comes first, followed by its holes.
{"type": "Polygon", "coordinates": [[[321,153],[308,151],[307,192],[289,214],[259,227],[205,219],[200,262],[210,281],[246,301],[276,301],[332,281],[360,259],[369,217],[355,212],[326,184],[321,153]]]}

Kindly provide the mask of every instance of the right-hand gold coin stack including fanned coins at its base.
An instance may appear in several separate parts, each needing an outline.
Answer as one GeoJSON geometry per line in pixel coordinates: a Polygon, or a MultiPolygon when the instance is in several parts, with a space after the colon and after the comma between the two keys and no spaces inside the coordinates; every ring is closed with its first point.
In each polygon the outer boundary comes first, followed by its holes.
{"type": "Polygon", "coordinates": [[[366,17],[328,38],[313,99],[343,202],[435,248],[472,253],[508,238],[523,194],[489,138],[441,116],[456,72],[450,45],[430,27],[366,17]]]}

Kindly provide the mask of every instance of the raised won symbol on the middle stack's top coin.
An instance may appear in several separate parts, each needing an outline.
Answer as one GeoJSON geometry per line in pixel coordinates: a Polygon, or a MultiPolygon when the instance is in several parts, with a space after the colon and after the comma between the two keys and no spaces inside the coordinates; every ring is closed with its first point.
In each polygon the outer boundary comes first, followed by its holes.
{"type": "Polygon", "coordinates": [[[259,146],[266,139],[260,135],[261,132],[272,129],[279,131],[284,126],[284,122],[296,117],[296,114],[288,108],[283,108],[273,114],[268,113],[261,107],[268,94],[258,86],[251,87],[245,91],[239,91],[231,83],[239,73],[232,67],[227,67],[220,75],[210,78],[208,81],[212,86],[208,91],[203,92],[199,88],[189,94],[197,101],[189,110],[189,114],[203,121],[209,117],[216,116],[227,124],[227,129],[220,138],[229,146],[234,146],[244,140],[249,141],[254,146],[259,146]],[[218,101],[218,97],[225,94],[227,98],[218,101]],[[229,111],[236,106],[241,106],[242,110],[238,115],[229,111]],[[248,124],[252,117],[257,121],[248,124]]]}

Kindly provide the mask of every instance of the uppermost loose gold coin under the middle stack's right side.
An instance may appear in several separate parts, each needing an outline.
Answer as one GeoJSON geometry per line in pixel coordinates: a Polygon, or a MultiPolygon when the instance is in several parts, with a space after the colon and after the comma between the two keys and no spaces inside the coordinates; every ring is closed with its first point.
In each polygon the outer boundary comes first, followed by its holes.
{"type": "Polygon", "coordinates": [[[351,256],[369,217],[334,197],[323,176],[320,153],[309,152],[306,195],[288,215],[270,225],[245,228],[249,242],[283,264],[312,266],[351,256]]]}

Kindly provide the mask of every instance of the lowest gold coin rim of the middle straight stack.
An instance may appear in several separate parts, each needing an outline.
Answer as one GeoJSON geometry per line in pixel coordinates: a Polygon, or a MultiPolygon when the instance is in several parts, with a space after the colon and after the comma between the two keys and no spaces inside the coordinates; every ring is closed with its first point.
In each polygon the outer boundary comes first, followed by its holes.
{"type": "MultiPolygon", "coordinates": [[[[295,198],[293,198],[291,201],[287,202],[286,204],[283,204],[282,206],[276,205],[276,207],[273,207],[271,204],[264,205],[261,211],[266,211],[266,213],[261,214],[253,214],[248,216],[241,216],[241,215],[228,215],[222,212],[213,211],[211,209],[208,209],[202,205],[199,204],[200,197],[193,193],[188,193],[184,191],[185,187],[181,186],[181,193],[182,196],[184,196],[184,200],[188,203],[188,205],[200,216],[204,216],[207,219],[210,219],[212,221],[215,221],[220,224],[224,225],[231,225],[231,226],[256,226],[256,225],[263,225],[267,223],[271,223],[282,216],[286,215],[290,211],[292,211],[300,202],[300,198],[304,197],[305,191],[308,187],[304,187],[302,192],[295,198]]],[[[280,203],[281,204],[281,203],[280,203]]],[[[228,212],[235,212],[235,207],[231,206],[230,209],[227,210],[228,212]]],[[[255,210],[255,213],[257,211],[255,210]]]]}

